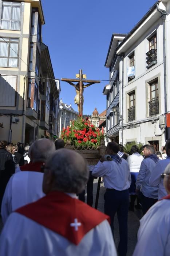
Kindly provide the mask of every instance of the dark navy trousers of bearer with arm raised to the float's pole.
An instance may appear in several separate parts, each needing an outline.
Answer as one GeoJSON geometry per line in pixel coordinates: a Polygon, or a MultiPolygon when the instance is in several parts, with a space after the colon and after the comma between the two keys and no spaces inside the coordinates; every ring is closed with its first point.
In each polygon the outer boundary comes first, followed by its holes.
{"type": "MultiPolygon", "coordinates": [[[[104,213],[110,216],[112,233],[114,231],[114,217],[117,212],[119,222],[120,241],[119,256],[127,253],[127,216],[129,210],[129,191],[106,190],[104,194],[104,213]]],[[[114,233],[113,233],[114,235],[114,233]]]]}

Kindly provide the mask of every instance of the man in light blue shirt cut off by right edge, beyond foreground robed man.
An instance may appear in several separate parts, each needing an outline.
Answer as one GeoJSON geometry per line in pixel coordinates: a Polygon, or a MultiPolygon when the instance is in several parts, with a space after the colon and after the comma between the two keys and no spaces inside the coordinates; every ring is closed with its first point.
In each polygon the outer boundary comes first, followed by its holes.
{"type": "Polygon", "coordinates": [[[151,173],[149,183],[151,186],[158,186],[158,200],[167,195],[166,189],[163,185],[163,178],[161,173],[164,172],[166,166],[170,163],[170,140],[166,141],[165,144],[167,158],[159,161],[154,168],[154,172],[151,173]]]}

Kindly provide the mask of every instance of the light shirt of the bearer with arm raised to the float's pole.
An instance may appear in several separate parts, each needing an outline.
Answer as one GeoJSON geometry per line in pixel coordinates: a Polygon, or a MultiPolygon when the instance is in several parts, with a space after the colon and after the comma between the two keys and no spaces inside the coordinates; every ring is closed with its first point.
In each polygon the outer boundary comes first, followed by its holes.
{"type": "Polygon", "coordinates": [[[122,159],[121,163],[116,163],[115,161],[104,161],[102,163],[99,161],[95,165],[92,175],[103,177],[105,188],[114,188],[118,191],[130,188],[130,169],[124,159],[122,159]]]}

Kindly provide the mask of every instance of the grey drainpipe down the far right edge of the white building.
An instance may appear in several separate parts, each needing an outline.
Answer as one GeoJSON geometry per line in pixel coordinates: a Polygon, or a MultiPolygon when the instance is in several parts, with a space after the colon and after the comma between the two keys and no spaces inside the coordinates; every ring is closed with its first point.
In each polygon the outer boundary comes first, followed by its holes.
{"type": "MultiPolygon", "coordinates": [[[[157,3],[157,11],[161,13],[160,18],[163,20],[163,69],[164,69],[164,108],[165,114],[167,113],[167,92],[166,92],[166,46],[165,46],[165,20],[166,15],[168,14],[166,11],[159,9],[159,3],[157,3]]],[[[166,140],[166,129],[165,129],[165,140],[166,140]]]]}

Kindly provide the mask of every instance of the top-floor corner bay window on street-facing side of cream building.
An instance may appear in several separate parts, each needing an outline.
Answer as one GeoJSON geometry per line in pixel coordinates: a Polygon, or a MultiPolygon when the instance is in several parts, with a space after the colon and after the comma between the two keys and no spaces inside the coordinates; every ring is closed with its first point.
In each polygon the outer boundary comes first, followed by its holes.
{"type": "Polygon", "coordinates": [[[31,35],[37,35],[39,43],[41,42],[41,19],[37,8],[32,8],[31,35]]]}

